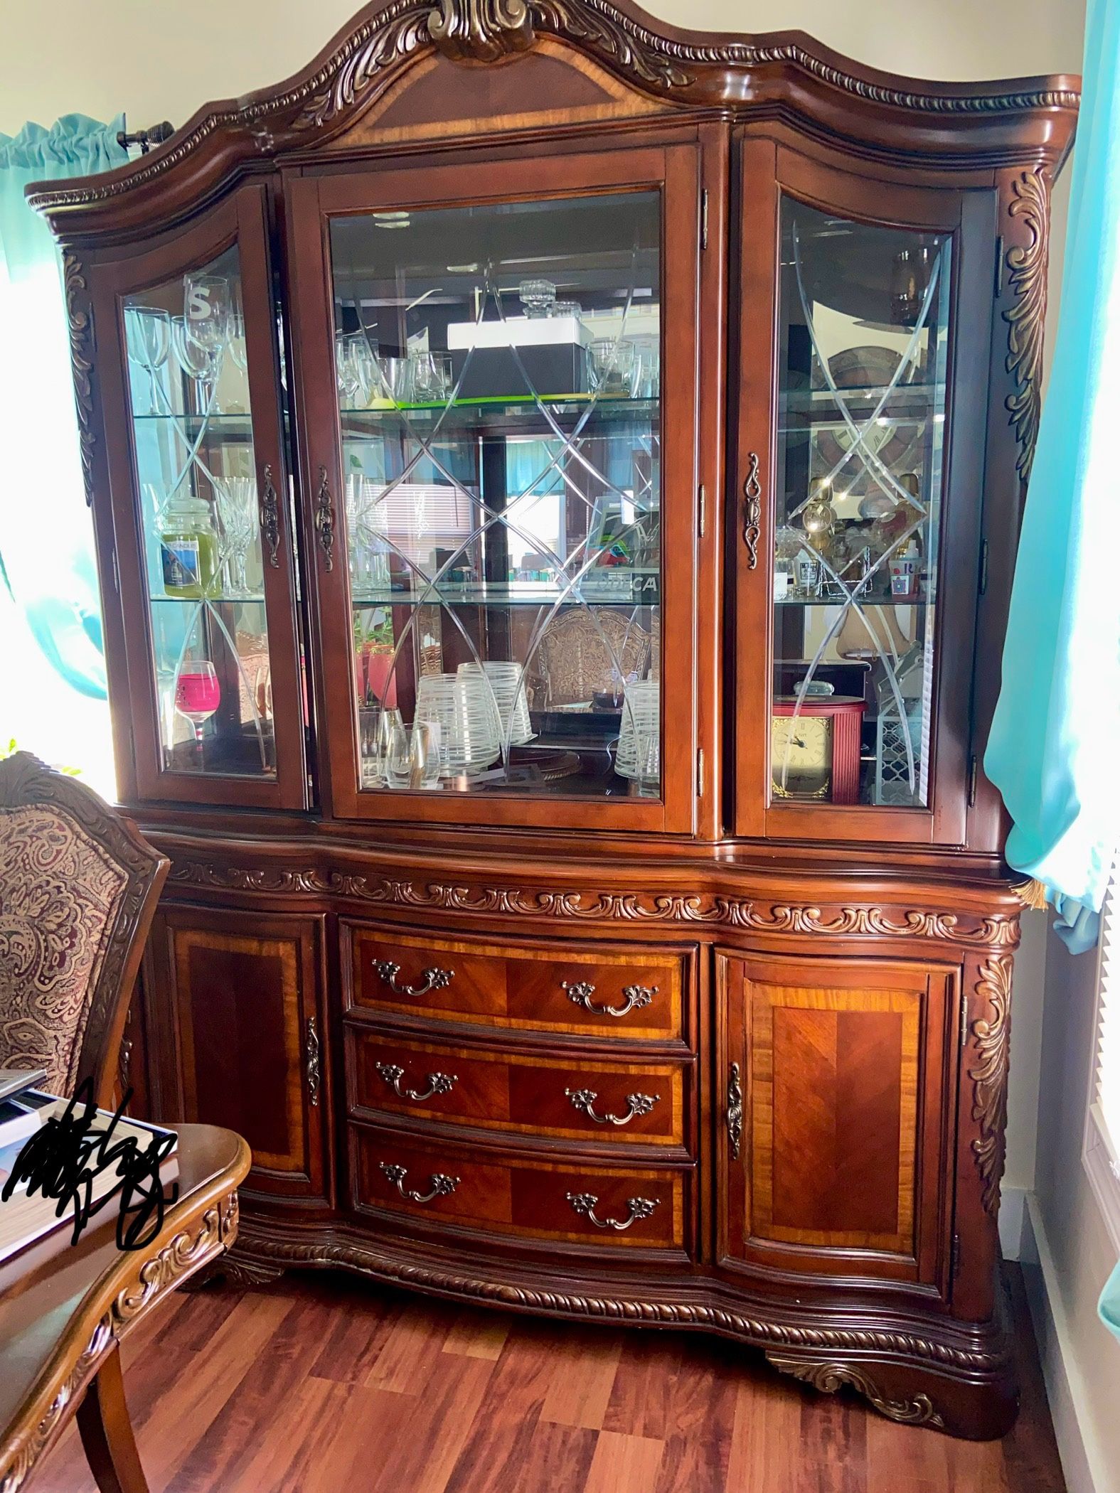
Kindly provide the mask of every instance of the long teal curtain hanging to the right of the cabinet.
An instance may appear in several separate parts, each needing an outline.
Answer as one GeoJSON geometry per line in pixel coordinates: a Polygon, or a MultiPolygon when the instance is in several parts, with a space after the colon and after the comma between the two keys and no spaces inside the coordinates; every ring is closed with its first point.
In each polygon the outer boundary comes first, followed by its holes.
{"type": "Polygon", "coordinates": [[[1089,0],[1054,361],[1023,515],[1004,684],[984,754],[1007,858],[1096,942],[1120,794],[1120,4],[1089,0]]]}

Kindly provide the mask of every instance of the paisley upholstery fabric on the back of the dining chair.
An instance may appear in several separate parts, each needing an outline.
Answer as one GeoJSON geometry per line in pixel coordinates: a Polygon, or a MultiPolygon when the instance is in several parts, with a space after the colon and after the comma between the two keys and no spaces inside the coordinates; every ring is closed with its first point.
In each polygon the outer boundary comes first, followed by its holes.
{"type": "Polygon", "coordinates": [[[0,809],[0,1067],[45,1067],[72,1091],[125,884],[61,809],[0,809]]]}

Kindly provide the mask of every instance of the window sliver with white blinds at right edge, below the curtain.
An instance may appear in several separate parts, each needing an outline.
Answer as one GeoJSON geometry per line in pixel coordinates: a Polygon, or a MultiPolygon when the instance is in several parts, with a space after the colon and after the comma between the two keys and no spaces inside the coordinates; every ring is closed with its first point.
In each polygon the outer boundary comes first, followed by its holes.
{"type": "Polygon", "coordinates": [[[1120,882],[1116,870],[1101,911],[1096,1051],[1089,1084],[1086,1171],[1120,1250],[1120,882]]]}

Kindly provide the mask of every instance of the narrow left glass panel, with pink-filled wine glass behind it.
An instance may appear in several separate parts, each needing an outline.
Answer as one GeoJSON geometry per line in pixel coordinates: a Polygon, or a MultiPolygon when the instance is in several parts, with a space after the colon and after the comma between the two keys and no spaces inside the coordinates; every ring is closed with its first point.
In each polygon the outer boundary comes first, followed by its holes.
{"type": "Polygon", "coordinates": [[[161,764],[275,778],[236,245],[122,311],[161,764]]]}

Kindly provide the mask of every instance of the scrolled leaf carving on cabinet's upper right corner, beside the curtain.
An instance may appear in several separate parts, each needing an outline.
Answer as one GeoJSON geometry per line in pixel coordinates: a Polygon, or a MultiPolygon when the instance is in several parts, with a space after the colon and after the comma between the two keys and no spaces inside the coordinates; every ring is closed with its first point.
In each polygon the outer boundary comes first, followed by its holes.
{"type": "Polygon", "coordinates": [[[1050,187],[1035,166],[1011,184],[1008,216],[1020,218],[1027,242],[1007,251],[1005,263],[1015,302],[1004,312],[1008,324],[1007,370],[1015,381],[1005,405],[1018,442],[1015,469],[1026,484],[1035,461],[1038,415],[1042,406],[1042,330],[1047,315],[1047,233],[1050,187]]]}

